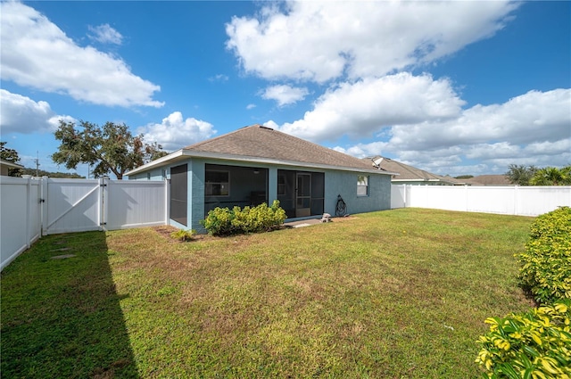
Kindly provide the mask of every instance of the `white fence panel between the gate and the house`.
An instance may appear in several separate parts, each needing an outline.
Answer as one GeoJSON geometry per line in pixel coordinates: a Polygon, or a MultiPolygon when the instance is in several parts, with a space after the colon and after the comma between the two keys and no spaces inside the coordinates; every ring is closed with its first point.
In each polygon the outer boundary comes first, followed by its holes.
{"type": "Polygon", "coordinates": [[[106,180],[105,185],[105,229],[153,227],[168,223],[167,181],[106,180]]]}

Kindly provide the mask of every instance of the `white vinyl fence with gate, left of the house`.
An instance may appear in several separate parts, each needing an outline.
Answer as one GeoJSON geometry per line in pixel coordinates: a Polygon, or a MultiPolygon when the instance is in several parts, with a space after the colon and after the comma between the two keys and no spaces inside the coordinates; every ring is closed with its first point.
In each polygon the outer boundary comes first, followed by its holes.
{"type": "Polygon", "coordinates": [[[166,225],[167,181],[0,177],[4,269],[42,235],[166,225]]]}

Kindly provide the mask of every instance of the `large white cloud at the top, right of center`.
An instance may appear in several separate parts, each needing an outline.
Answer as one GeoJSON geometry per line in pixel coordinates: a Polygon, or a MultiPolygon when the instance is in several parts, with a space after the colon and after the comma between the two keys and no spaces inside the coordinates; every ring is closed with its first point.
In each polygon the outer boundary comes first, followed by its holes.
{"type": "Polygon", "coordinates": [[[227,47],[261,78],[325,82],[382,76],[434,62],[503,28],[518,4],[298,2],[234,17],[227,47]]]}

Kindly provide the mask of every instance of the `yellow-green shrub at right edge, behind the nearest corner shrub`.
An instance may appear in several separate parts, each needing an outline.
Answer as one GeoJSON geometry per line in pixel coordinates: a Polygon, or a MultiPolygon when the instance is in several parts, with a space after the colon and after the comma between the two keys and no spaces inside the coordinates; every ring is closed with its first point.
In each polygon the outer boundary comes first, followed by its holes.
{"type": "Polygon", "coordinates": [[[571,299],[571,208],[536,218],[525,252],[516,257],[521,265],[519,278],[537,301],[571,299]]]}

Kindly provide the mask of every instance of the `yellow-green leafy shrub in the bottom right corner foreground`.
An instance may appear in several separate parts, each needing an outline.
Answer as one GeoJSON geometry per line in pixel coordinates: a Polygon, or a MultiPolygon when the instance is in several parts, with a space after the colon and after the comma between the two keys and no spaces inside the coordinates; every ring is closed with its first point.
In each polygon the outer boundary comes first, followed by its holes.
{"type": "Polygon", "coordinates": [[[571,301],[562,299],[523,315],[490,317],[476,363],[485,378],[571,377],[571,301]]]}

